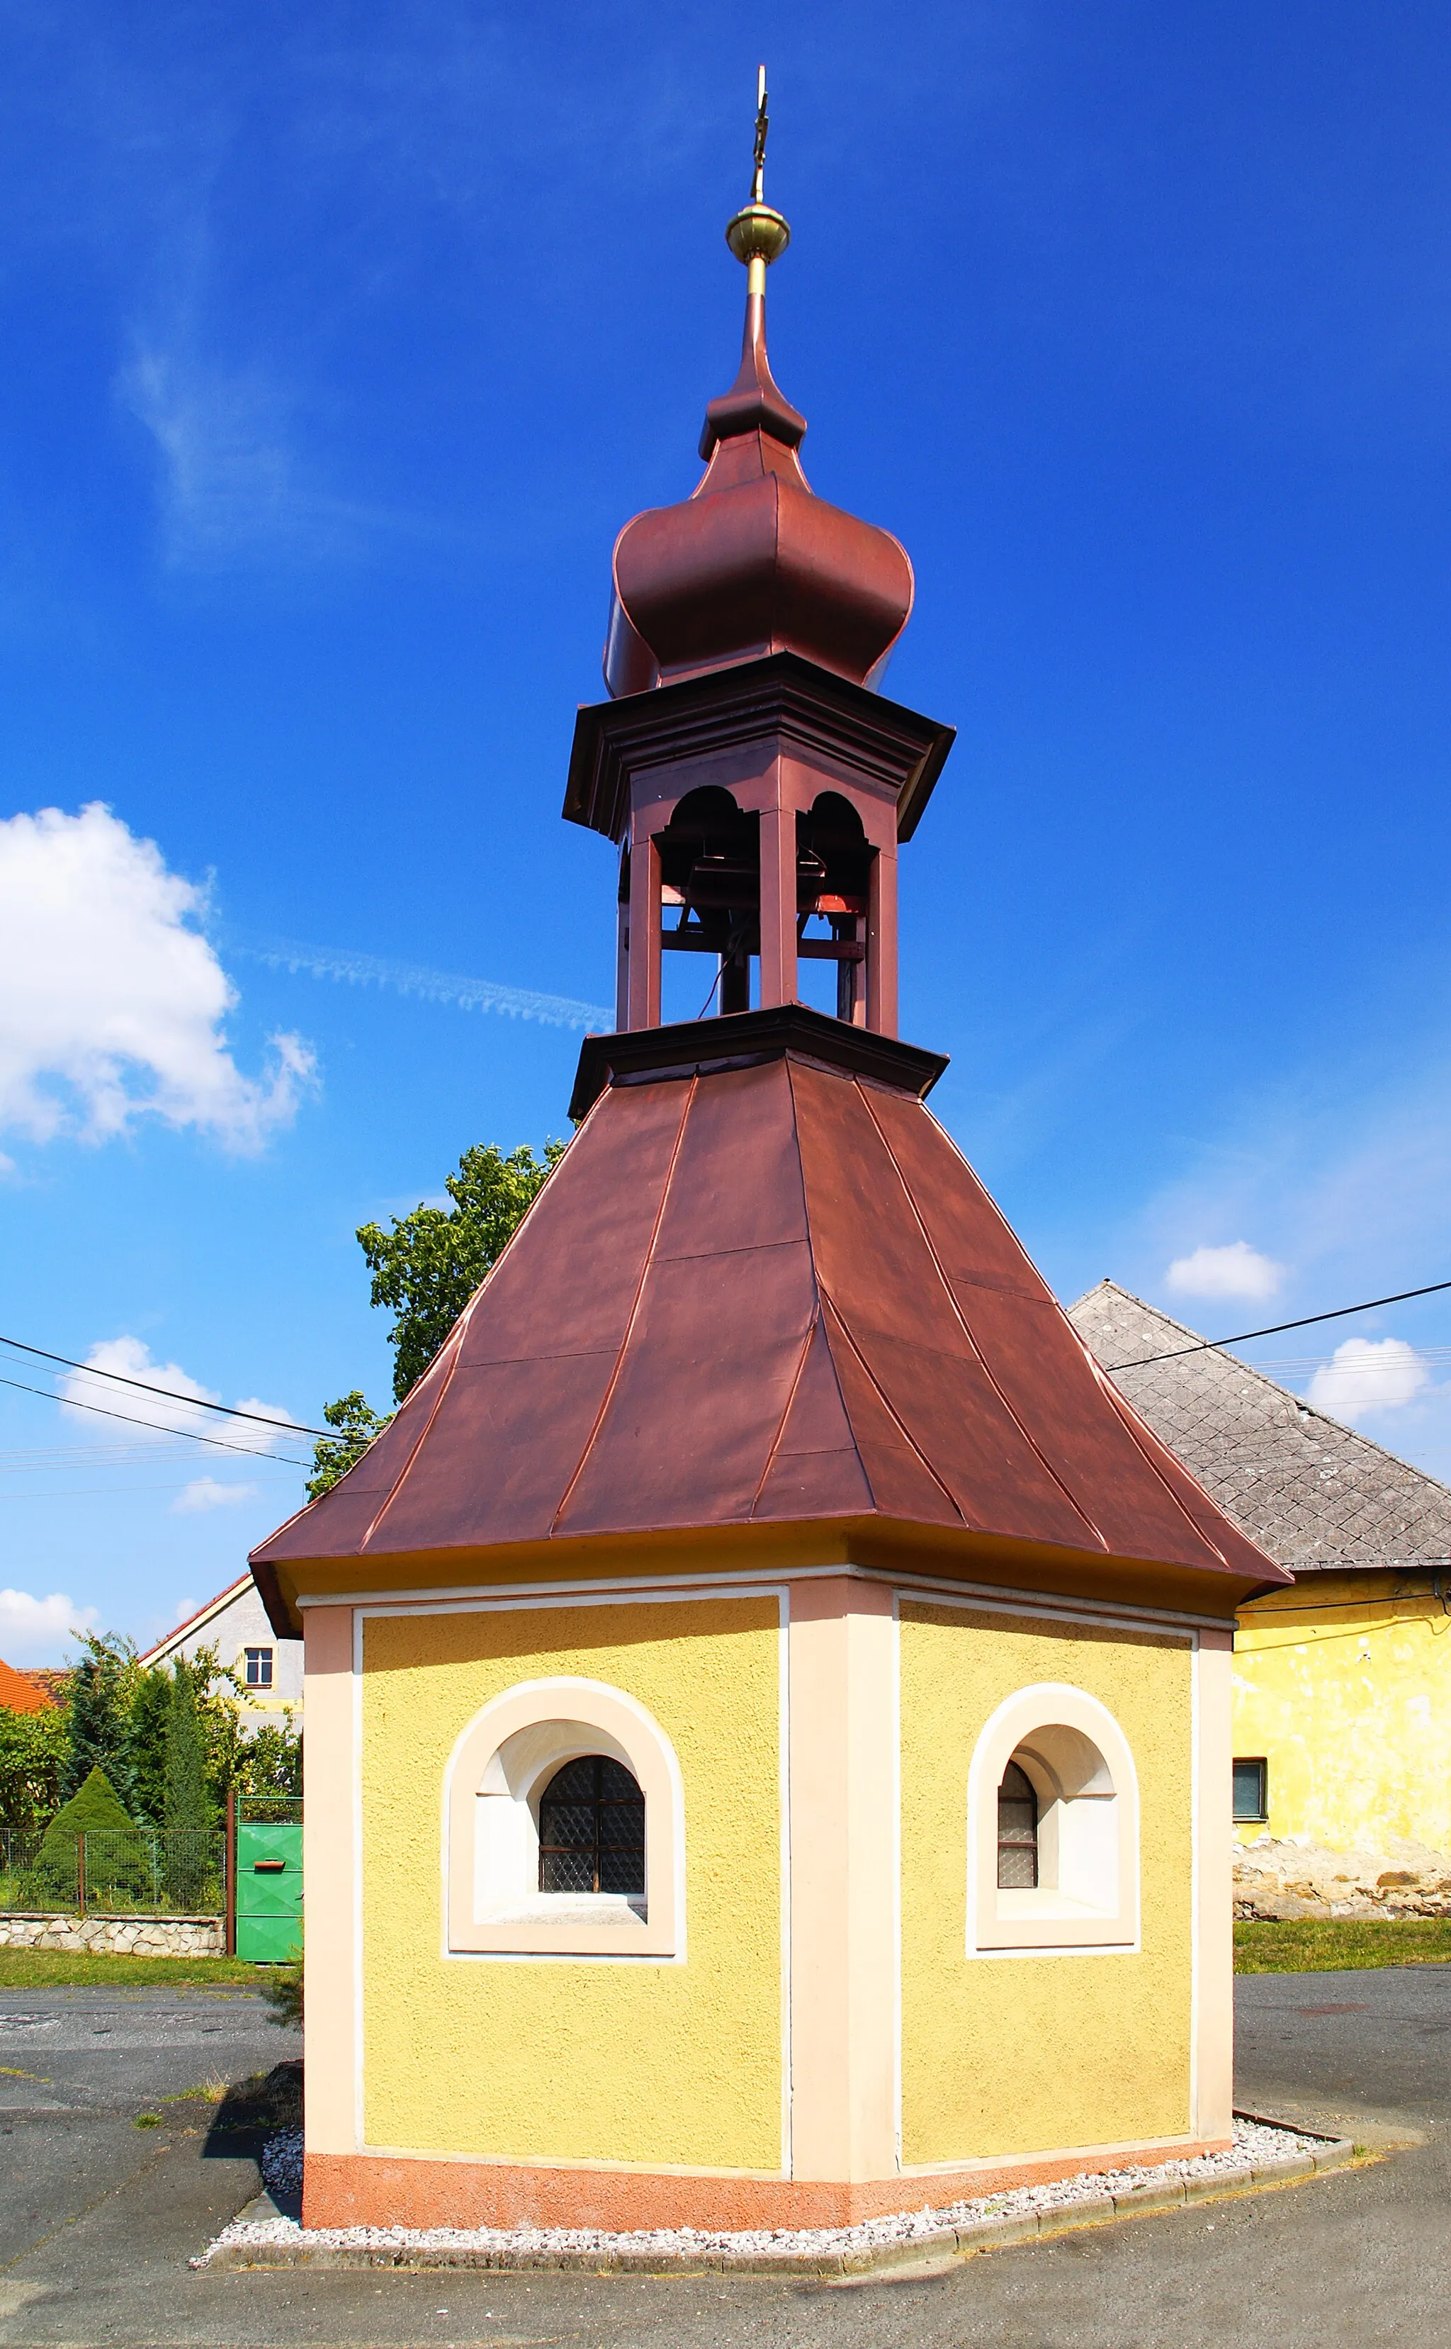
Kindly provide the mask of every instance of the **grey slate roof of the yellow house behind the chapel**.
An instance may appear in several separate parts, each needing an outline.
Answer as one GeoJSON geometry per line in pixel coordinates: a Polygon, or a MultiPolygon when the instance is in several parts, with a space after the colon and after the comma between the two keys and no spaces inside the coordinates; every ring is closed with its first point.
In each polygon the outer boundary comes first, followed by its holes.
{"type": "Polygon", "coordinates": [[[1179,1362],[1115,1369],[1202,1346],[1195,1330],[1115,1280],[1068,1306],[1068,1320],[1139,1416],[1277,1564],[1312,1574],[1451,1562],[1451,1492],[1425,1470],[1219,1346],[1179,1362]]]}

